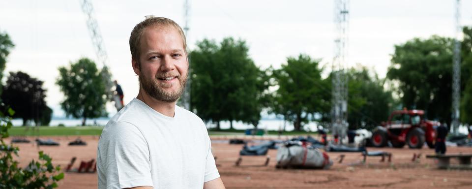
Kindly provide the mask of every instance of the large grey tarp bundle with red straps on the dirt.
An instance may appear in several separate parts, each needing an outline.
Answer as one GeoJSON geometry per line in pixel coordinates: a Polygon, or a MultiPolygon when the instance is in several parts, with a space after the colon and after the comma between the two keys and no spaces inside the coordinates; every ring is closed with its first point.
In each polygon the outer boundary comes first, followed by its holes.
{"type": "Polygon", "coordinates": [[[323,168],[333,164],[328,155],[300,141],[288,141],[277,150],[277,168],[323,168]]]}

